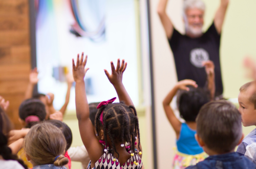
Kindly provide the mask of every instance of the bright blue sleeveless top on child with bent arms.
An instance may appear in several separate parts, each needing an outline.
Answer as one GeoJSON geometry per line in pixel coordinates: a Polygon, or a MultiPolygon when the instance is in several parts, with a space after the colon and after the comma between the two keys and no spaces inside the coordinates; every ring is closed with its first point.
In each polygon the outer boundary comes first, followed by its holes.
{"type": "Polygon", "coordinates": [[[196,155],[204,152],[197,143],[195,138],[196,133],[196,130],[192,130],[186,123],[182,123],[180,137],[176,142],[179,152],[188,155],[196,155]]]}

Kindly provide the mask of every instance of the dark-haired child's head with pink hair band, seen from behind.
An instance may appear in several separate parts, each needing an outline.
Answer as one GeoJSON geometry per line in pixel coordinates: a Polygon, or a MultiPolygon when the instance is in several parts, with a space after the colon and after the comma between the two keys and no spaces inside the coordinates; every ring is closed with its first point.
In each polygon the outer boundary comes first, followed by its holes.
{"type": "Polygon", "coordinates": [[[45,105],[38,99],[28,99],[19,106],[19,121],[26,128],[45,120],[45,105]]]}

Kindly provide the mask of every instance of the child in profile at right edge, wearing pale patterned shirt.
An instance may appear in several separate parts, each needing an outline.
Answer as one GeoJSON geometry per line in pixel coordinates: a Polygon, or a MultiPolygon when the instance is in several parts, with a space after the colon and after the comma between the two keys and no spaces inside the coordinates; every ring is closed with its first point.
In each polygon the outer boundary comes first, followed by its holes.
{"type": "MultiPolygon", "coordinates": [[[[256,126],[256,81],[246,83],[238,95],[243,126],[256,126]]],[[[256,164],[256,129],[252,130],[238,146],[237,152],[256,164]]]]}

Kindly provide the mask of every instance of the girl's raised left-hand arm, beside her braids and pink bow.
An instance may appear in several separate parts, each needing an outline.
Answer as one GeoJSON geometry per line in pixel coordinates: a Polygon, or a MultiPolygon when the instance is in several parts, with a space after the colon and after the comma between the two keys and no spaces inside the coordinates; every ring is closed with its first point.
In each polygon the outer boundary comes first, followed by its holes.
{"type": "Polygon", "coordinates": [[[82,138],[83,145],[86,147],[89,157],[94,164],[103,154],[103,146],[97,139],[93,124],[90,120],[89,105],[86,96],[86,86],[84,84],[84,76],[89,68],[85,68],[87,63],[87,56],[83,61],[83,53],[81,59],[77,55],[77,62],[75,65],[73,59],[73,77],[76,82],[75,99],[76,99],[76,117],[78,119],[79,131],[82,138]]]}

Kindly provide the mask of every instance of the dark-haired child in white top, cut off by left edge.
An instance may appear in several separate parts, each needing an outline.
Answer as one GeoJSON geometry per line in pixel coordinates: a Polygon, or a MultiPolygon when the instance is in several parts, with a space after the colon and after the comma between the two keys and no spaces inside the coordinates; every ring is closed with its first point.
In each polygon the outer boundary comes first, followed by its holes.
{"type": "MultiPolygon", "coordinates": [[[[27,169],[27,165],[21,159],[18,159],[13,149],[11,148],[12,143],[8,147],[8,137],[11,130],[11,123],[4,110],[0,106],[0,169],[27,169]]],[[[23,138],[17,140],[17,142],[23,143],[23,138]]],[[[15,145],[17,147],[17,145],[15,145]]]]}

